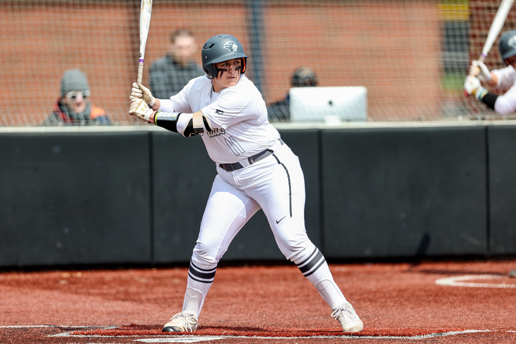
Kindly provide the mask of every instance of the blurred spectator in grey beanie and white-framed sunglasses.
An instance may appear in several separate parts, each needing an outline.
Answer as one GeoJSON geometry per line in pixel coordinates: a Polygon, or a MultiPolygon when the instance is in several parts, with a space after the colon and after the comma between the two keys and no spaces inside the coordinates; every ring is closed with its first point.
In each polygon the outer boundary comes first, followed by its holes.
{"type": "Polygon", "coordinates": [[[86,75],[78,69],[67,70],[61,79],[61,97],[42,126],[88,126],[111,124],[106,112],[90,102],[86,75]]]}

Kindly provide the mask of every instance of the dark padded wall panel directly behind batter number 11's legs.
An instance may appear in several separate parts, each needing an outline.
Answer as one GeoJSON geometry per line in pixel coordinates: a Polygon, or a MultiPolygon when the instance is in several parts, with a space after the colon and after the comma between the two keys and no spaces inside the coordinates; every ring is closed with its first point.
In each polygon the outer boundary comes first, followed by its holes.
{"type": "MultiPolygon", "coordinates": [[[[317,130],[282,131],[281,134],[287,145],[300,157],[307,183],[307,232],[317,245],[317,130]]],[[[185,138],[171,132],[154,132],[152,145],[155,261],[189,261],[217,174],[215,163],[209,159],[200,136],[185,138]],[[191,163],[185,165],[180,163],[182,161],[191,163]]],[[[256,259],[285,259],[262,210],[240,230],[221,260],[256,259]]]]}

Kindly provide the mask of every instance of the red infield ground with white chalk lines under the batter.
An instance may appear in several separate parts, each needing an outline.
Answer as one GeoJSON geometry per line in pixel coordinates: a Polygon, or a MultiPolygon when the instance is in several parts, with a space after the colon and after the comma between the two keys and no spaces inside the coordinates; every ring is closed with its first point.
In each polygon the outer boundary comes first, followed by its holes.
{"type": "Polygon", "coordinates": [[[356,334],[337,327],[293,265],[218,268],[199,330],[185,334],[161,328],[181,310],[187,268],[2,272],[0,344],[514,343],[516,278],[507,272],[515,268],[516,260],[330,264],[364,321],[356,334]]]}

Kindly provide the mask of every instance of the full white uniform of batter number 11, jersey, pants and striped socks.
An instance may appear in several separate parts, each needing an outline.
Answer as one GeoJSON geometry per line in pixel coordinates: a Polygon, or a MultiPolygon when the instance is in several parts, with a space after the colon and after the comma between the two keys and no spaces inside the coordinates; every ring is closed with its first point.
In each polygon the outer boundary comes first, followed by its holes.
{"type": "MultiPolygon", "coordinates": [[[[202,111],[214,127],[203,133],[202,139],[217,163],[218,175],[193,249],[183,310],[195,309],[199,316],[218,261],[260,208],[285,257],[297,264],[332,308],[346,302],[325,258],[304,228],[304,178],[299,159],[268,122],[265,102],[254,84],[242,74],[235,86],[216,93],[212,81],[200,76],[160,104],[162,112],[202,111]],[[266,149],[273,154],[253,164],[246,159],[266,149]],[[230,172],[219,166],[236,162],[244,167],[230,172]]],[[[185,125],[180,116],[178,131],[185,125]]]]}

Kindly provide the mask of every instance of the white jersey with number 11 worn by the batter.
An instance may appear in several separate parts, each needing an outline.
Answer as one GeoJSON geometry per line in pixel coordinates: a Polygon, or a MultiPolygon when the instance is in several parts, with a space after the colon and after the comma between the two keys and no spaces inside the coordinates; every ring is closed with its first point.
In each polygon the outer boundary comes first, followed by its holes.
{"type": "Polygon", "coordinates": [[[202,135],[209,157],[218,164],[235,163],[269,148],[280,134],[267,119],[267,108],[254,84],[245,75],[235,86],[214,92],[212,81],[199,76],[160,111],[206,115],[214,131],[202,135]],[[172,108],[170,108],[172,107],[172,108]]]}

